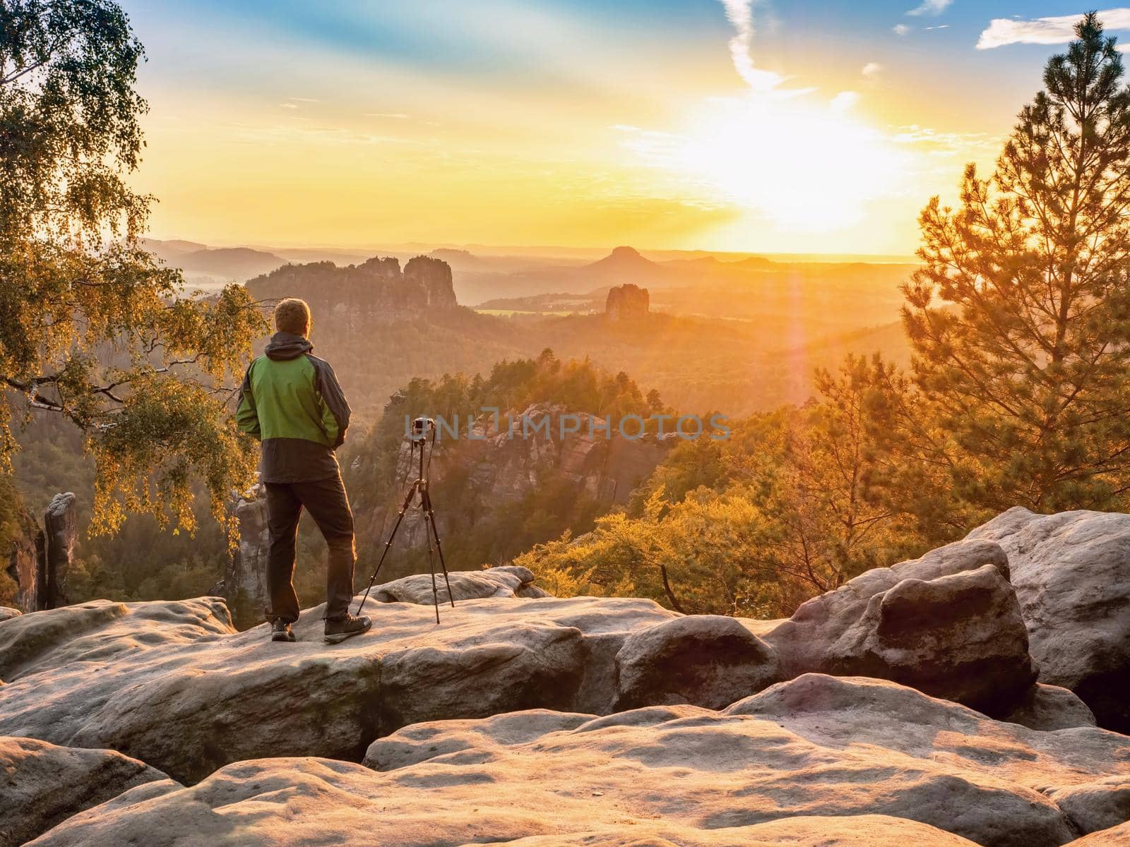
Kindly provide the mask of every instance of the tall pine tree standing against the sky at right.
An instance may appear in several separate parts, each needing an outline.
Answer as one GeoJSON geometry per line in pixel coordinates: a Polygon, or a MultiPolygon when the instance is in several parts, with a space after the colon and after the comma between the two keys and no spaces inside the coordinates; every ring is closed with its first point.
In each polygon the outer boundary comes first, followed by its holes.
{"type": "Polygon", "coordinates": [[[914,377],[957,494],[985,509],[1130,491],[1130,91],[1095,14],[1044,71],[991,178],[920,217],[914,377]]]}

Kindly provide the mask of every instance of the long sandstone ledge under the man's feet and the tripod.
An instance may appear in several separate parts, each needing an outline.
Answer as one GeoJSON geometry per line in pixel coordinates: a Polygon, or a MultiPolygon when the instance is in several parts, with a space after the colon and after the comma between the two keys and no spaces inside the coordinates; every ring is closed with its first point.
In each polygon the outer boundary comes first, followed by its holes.
{"type": "Polygon", "coordinates": [[[470,600],[443,613],[373,605],[374,629],[322,640],[295,627],[236,634],[219,599],[88,603],[0,625],[0,733],[113,748],[174,778],[264,754],[354,759],[379,735],[438,717],[547,707],[607,713],[615,656],[676,617],[651,601],[470,600]]]}

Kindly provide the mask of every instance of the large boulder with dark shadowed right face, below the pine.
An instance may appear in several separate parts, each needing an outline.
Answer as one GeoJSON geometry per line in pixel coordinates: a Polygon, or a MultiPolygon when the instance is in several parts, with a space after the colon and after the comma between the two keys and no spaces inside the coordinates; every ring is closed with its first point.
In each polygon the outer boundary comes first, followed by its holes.
{"type": "Polygon", "coordinates": [[[1003,550],[959,541],[876,568],[759,625],[785,676],[863,675],[986,714],[1011,711],[1035,680],[1003,550]]]}

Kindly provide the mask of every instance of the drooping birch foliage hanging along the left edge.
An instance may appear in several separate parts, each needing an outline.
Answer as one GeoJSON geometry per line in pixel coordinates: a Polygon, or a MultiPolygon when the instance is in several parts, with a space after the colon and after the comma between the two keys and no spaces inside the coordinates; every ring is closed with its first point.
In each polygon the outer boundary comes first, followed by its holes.
{"type": "MultiPolygon", "coordinates": [[[[142,145],[141,56],[110,0],[0,8],[0,382],[85,434],[96,530],[130,509],[192,530],[189,480],[223,519],[254,466],[221,384],[263,322],[240,286],[180,297],[180,273],[139,244],[150,199],[125,176],[142,145]]],[[[3,404],[5,464],[10,421],[3,404]]]]}

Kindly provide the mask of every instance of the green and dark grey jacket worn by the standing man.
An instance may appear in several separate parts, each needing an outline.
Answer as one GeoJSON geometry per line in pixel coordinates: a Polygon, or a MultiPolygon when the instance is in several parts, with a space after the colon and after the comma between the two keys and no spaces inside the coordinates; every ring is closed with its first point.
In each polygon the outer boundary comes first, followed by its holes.
{"type": "Polygon", "coordinates": [[[349,428],[349,403],[333,368],[302,335],[276,332],[251,363],[236,422],[262,443],[263,482],[313,482],[339,473],[333,451],[349,428]]]}

